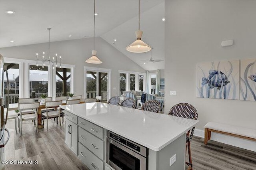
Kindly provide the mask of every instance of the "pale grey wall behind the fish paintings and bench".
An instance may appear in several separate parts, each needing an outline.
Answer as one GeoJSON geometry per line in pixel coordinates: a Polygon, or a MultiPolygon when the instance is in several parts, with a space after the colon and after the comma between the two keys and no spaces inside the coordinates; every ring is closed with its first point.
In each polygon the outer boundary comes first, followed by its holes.
{"type": "Polygon", "coordinates": [[[165,113],[187,102],[198,111],[196,128],[214,121],[256,129],[256,102],[196,98],[196,63],[256,58],[255,9],[255,0],[165,0],[165,113]]]}

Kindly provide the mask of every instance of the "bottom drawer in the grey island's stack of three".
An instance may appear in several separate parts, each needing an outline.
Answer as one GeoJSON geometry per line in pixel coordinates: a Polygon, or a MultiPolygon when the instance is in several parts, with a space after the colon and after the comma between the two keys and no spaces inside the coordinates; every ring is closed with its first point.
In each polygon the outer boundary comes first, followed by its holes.
{"type": "Polygon", "coordinates": [[[104,162],[81,143],[78,143],[78,157],[90,170],[103,170],[104,162]]]}

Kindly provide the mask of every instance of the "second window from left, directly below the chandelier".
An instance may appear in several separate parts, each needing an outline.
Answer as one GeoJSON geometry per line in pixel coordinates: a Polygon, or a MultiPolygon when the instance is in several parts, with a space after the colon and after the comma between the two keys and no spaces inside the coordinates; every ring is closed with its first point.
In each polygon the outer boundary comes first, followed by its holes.
{"type": "Polygon", "coordinates": [[[48,67],[29,66],[29,95],[33,98],[48,95],[48,67]]]}

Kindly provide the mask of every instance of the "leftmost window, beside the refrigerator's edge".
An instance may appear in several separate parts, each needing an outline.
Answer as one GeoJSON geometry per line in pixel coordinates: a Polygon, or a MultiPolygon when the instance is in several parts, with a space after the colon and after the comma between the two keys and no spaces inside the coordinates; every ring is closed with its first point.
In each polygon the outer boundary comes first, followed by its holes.
{"type": "MultiPolygon", "coordinates": [[[[9,103],[18,103],[19,99],[19,64],[4,63],[7,66],[8,79],[9,79],[9,103]]],[[[4,72],[4,96],[7,97],[7,78],[4,72]]],[[[7,100],[5,100],[7,102],[7,100]]],[[[5,103],[6,106],[6,103],[5,103]]]]}

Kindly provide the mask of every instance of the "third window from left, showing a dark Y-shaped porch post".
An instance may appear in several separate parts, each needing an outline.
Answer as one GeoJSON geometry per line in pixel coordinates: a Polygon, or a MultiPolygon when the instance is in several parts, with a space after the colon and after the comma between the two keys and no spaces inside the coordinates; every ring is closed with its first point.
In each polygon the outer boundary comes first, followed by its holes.
{"type": "Polygon", "coordinates": [[[56,68],[56,96],[66,96],[70,93],[70,68],[56,68]]]}

